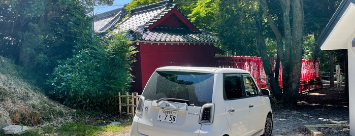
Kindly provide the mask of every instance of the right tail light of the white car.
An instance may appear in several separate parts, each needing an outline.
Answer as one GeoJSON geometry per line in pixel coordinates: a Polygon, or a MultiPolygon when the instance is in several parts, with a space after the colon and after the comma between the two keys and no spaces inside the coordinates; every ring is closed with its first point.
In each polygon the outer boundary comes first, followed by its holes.
{"type": "Polygon", "coordinates": [[[214,114],[214,104],[205,104],[200,112],[200,124],[212,124],[214,114]]]}

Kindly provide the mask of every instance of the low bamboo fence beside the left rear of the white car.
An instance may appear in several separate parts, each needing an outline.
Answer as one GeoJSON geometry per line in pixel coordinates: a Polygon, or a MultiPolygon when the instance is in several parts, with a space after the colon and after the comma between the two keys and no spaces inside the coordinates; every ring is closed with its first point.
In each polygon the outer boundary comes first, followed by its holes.
{"type": "Polygon", "coordinates": [[[118,92],[116,97],[118,98],[118,110],[119,114],[126,115],[126,116],[134,116],[136,112],[136,107],[138,104],[139,96],[137,92],[129,93],[126,92],[125,95],[122,95],[118,92]]]}

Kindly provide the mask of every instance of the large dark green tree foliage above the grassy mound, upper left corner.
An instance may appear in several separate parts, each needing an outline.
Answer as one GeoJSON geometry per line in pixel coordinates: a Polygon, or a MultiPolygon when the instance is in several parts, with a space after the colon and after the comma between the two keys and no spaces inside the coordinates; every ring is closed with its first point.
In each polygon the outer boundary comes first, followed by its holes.
{"type": "Polygon", "coordinates": [[[91,41],[91,18],[97,4],[112,0],[0,1],[0,55],[12,58],[43,86],[57,60],[72,56],[78,43],[91,41]]]}

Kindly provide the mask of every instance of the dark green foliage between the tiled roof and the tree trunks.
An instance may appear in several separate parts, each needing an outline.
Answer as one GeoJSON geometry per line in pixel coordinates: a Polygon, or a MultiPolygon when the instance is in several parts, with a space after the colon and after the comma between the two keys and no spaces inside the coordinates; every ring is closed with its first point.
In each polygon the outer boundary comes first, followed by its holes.
{"type": "Polygon", "coordinates": [[[216,31],[229,55],[259,56],[254,41],[255,10],[257,4],[252,1],[220,1],[216,31]]]}

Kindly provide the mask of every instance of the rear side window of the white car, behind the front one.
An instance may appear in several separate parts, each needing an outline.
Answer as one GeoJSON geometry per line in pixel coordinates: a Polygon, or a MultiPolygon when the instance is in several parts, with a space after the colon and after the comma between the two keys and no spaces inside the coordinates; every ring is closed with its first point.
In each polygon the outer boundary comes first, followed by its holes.
{"type": "Polygon", "coordinates": [[[223,82],[225,99],[236,99],[244,96],[240,74],[225,74],[223,82]]]}

